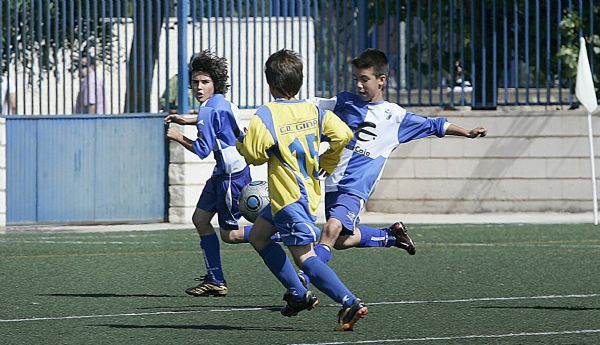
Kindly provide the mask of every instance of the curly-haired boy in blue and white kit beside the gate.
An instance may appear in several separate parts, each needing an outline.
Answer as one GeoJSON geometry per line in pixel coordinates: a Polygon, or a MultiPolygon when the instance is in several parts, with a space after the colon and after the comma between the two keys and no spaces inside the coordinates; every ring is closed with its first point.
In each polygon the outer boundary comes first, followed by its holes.
{"type": "Polygon", "coordinates": [[[237,199],[241,189],[252,179],[250,169],[235,147],[239,132],[239,109],[223,96],[227,85],[227,60],[203,51],[192,57],[189,64],[190,87],[201,104],[196,117],[169,115],[167,123],[195,125],[198,138],[192,140],[174,128],[167,130],[167,138],[181,144],[204,159],[212,152],[216,165],[192,216],[200,236],[207,274],[196,280],[197,286],[185,292],[192,296],[226,296],[227,283],[221,265],[219,238],[211,225],[218,214],[221,239],[227,243],[244,241],[244,229],[239,228],[240,213],[237,199]]]}

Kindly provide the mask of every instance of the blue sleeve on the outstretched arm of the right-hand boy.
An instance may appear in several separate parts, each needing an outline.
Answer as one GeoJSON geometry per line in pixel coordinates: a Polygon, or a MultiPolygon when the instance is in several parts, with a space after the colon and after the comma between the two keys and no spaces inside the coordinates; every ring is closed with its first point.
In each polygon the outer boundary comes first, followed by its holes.
{"type": "Polygon", "coordinates": [[[398,142],[406,143],[430,135],[443,137],[448,128],[446,123],[445,117],[431,118],[407,112],[398,128],[398,142]]]}

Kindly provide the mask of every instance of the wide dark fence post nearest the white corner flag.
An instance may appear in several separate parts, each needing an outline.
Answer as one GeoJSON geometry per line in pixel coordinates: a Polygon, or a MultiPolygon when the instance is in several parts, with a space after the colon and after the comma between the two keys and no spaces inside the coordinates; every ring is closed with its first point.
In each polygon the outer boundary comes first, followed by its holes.
{"type": "Polygon", "coordinates": [[[497,89],[494,61],[496,45],[496,24],[493,8],[496,4],[486,5],[486,0],[474,0],[476,20],[473,32],[473,110],[496,110],[497,89]]]}

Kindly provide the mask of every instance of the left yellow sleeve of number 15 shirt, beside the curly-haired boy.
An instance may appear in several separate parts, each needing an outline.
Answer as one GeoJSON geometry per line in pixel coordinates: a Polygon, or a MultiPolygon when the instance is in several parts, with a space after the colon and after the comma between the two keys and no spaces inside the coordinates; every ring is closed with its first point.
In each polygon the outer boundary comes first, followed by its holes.
{"type": "Polygon", "coordinates": [[[268,150],[275,145],[275,140],[259,116],[250,117],[248,132],[240,139],[236,142],[236,147],[246,163],[261,165],[269,160],[268,150]]]}

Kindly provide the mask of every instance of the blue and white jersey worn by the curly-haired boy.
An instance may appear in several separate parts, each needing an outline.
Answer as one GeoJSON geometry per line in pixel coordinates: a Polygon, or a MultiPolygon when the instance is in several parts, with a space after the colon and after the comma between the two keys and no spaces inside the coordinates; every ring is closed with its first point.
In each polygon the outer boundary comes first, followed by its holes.
{"type": "Polygon", "coordinates": [[[194,141],[193,148],[201,159],[213,152],[217,161],[213,175],[233,174],[247,166],[244,157],[235,148],[240,132],[239,119],[240,109],[219,93],[198,110],[198,139],[194,141]]]}

